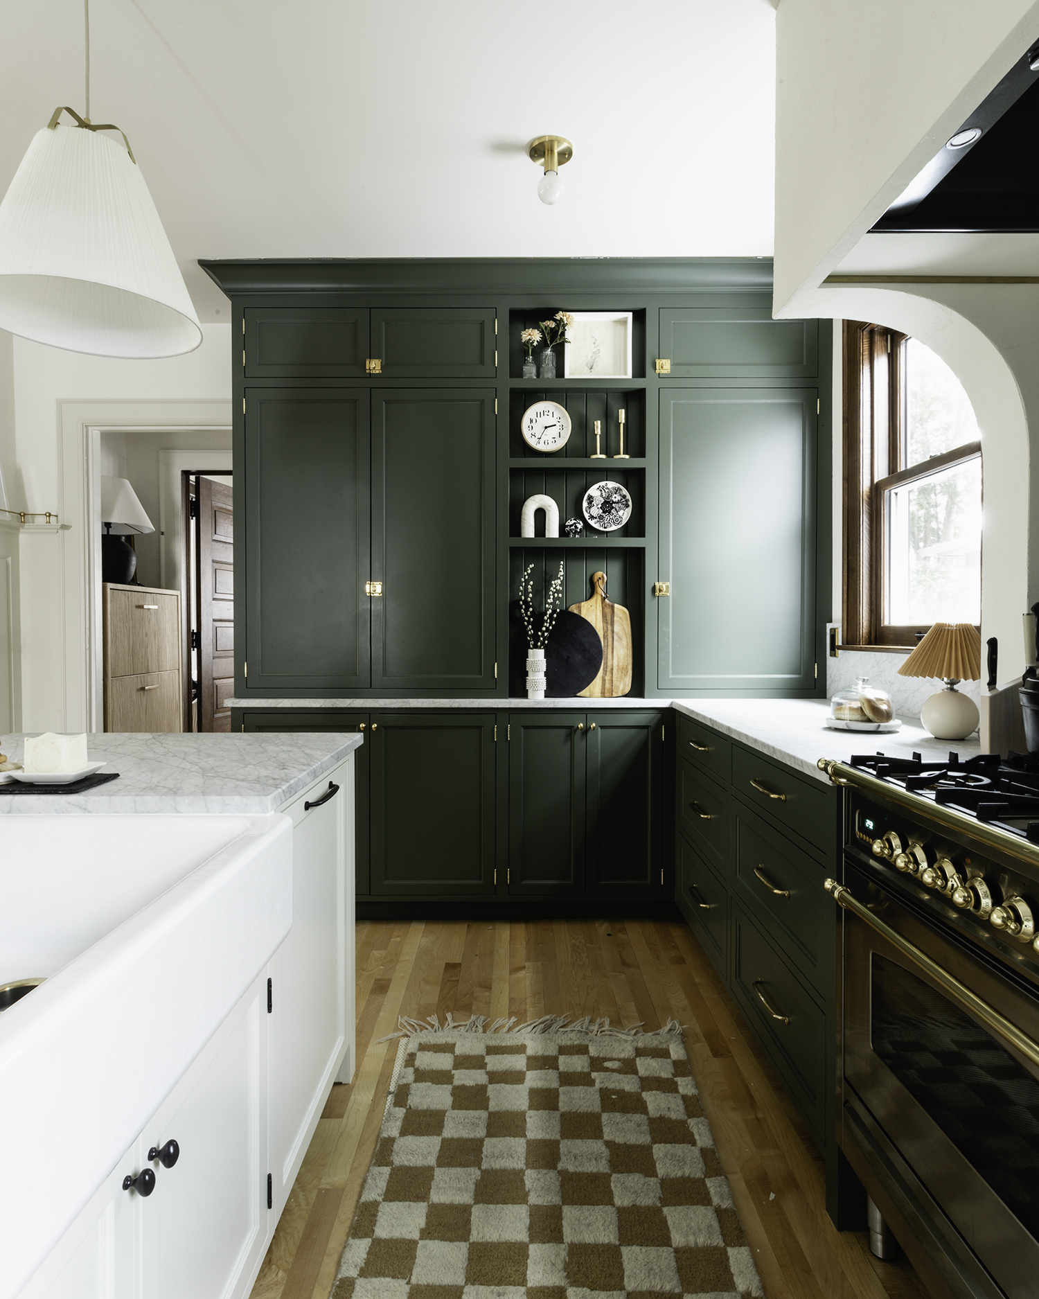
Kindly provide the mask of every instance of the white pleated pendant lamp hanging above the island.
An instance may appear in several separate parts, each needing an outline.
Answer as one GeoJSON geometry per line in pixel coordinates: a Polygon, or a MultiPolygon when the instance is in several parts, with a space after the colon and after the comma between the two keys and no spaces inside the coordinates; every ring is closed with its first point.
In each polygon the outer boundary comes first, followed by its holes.
{"type": "Polygon", "coordinates": [[[0,327],[94,356],[191,352],[199,317],[126,135],[123,148],[99,134],[110,130],[90,121],[87,27],[87,116],[56,109],[0,203],[0,327]]]}

